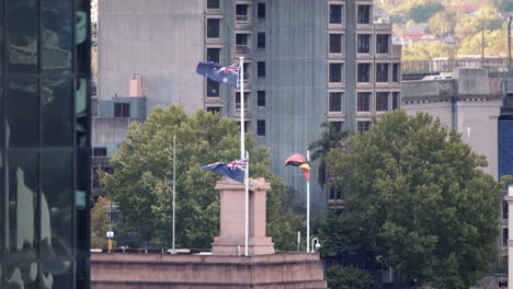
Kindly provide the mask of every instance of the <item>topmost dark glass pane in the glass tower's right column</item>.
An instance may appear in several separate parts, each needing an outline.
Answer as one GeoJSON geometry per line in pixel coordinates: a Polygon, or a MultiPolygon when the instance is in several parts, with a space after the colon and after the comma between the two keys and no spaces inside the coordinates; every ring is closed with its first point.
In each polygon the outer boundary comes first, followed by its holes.
{"type": "Polygon", "coordinates": [[[71,73],[72,11],[69,0],[41,0],[43,70],[71,73]]]}

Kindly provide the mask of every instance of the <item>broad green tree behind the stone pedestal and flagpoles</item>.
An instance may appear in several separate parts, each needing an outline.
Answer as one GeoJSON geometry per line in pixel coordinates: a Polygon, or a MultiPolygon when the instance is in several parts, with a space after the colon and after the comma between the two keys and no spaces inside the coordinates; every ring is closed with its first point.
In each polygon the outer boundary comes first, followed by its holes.
{"type": "MultiPolygon", "coordinates": [[[[201,165],[239,158],[237,120],[203,109],[187,116],[183,107],[155,107],[144,124],[133,123],[127,141],[111,159],[114,173],[104,175],[105,190],[118,203],[118,244],[169,246],[171,243],[173,135],[176,136],[176,245],[209,247],[219,231],[220,175],[201,165]]],[[[270,154],[246,135],[250,176],[271,182],[267,193],[267,233],[277,248],[295,245],[300,217],[281,213],[286,187],[269,171],[270,154]],[[288,243],[290,244],[288,244],[288,243]]]]}

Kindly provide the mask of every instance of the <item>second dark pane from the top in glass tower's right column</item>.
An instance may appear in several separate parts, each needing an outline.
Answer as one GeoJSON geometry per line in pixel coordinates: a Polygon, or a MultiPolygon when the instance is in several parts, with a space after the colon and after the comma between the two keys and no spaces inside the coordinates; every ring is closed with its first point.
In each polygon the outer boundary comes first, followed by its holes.
{"type": "Polygon", "coordinates": [[[43,113],[43,146],[72,146],[71,80],[44,80],[41,92],[43,113]]]}

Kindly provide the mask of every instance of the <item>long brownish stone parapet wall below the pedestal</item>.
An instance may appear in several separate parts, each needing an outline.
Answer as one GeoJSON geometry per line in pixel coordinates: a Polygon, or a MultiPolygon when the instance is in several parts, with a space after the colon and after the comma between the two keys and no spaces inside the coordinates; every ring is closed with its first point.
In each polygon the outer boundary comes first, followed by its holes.
{"type": "Polygon", "coordinates": [[[92,253],[91,289],[326,289],[318,254],[92,253]]]}

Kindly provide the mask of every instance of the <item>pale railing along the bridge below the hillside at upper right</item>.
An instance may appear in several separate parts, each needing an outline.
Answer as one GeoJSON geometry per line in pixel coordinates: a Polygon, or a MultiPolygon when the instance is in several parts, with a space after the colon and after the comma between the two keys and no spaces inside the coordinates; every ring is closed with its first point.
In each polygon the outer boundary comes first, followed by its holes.
{"type": "Polygon", "coordinates": [[[425,61],[402,61],[402,73],[415,72],[453,72],[455,68],[461,67],[483,67],[499,68],[508,65],[506,58],[485,58],[485,59],[447,59],[447,60],[425,60],[425,61]]]}

